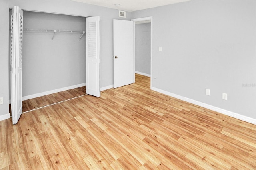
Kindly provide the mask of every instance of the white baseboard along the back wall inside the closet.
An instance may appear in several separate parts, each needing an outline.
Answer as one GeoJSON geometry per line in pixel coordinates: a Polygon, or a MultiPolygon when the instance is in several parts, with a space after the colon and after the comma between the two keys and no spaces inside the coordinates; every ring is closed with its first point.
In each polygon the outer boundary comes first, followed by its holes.
{"type": "Polygon", "coordinates": [[[83,86],[86,86],[86,83],[82,83],[82,84],[78,84],[78,85],[72,85],[72,86],[63,87],[63,88],[60,88],[60,89],[55,89],[55,90],[50,90],[50,91],[45,91],[45,92],[42,92],[42,93],[36,93],[36,94],[33,94],[33,95],[23,96],[22,101],[28,100],[28,99],[33,99],[33,98],[36,98],[36,97],[45,96],[45,95],[50,95],[50,94],[53,94],[53,93],[58,93],[58,92],[65,91],[65,90],[75,89],[75,88],[83,87],[83,86]]]}

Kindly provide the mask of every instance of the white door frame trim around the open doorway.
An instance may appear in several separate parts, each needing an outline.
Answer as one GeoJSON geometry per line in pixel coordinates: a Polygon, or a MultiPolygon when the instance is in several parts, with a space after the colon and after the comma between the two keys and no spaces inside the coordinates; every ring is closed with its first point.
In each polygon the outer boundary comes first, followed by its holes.
{"type": "MultiPolygon", "coordinates": [[[[148,16],[144,18],[136,18],[136,19],[132,19],[131,21],[136,22],[136,21],[146,21],[146,20],[150,20],[150,77],[153,77],[153,17],[148,16]]],[[[134,29],[134,32],[135,32],[135,29],[134,29]]],[[[135,34],[134,34],[134,40],[135,40],[135,34]]],[[[134,51],[135,51],[135,47],[134,47],[134,51]]],[[[135,52],[134,52],[134,58],[135,58],[135,52]]],[[[134,68],[134,71],[135,71],[135,68],[134,68]]],[[[150,79],[150,89],[152,88],[153,88],[153,79],[150,79]]]]}

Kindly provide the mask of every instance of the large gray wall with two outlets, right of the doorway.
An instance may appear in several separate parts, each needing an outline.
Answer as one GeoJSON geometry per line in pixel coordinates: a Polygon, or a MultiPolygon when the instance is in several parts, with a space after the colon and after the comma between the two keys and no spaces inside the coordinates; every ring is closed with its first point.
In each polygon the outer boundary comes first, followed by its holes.
{"type": "Polygon", "coordinates": [[[153,87],[255,119],[255,3],[193,0],[132,12],[153,17],[153,87]]]}

